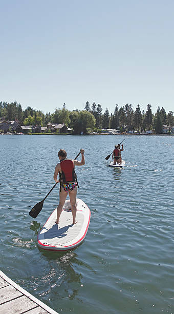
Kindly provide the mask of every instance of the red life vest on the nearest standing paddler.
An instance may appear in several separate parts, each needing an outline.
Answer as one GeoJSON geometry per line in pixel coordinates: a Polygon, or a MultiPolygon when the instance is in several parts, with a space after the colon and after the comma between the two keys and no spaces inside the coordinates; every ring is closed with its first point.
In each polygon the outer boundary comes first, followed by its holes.
{"type": "Polygon", "coordinates": [[[60,161],[60,167],[62,173],[59,172],[61,182],[75,182],[76,173],[72,160],[66,159],[60,161]]]}

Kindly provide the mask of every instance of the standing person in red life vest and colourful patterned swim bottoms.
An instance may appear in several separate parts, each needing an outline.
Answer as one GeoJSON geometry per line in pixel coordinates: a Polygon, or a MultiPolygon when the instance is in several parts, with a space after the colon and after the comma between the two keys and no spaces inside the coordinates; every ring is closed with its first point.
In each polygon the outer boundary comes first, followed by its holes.
{"type": "Polygon", "coordinates": [[[59,205],[57,206],[57,219],[56,224],[59,223],[60,214],[62,212],[62,208],[64,202],[66,201],[67,195],[69,193],[70,203],[71,203],[71,211],[73,215],[73,224],[76,224],[76,195],[77,195],[77,176],[75,173],[75,166],[83,166],[85,164],[84,161],[84,149],[80,149],[81,152],[81,162],[73,159],[67,159],[67,152],[64,149],[60,149],[58,152],[58,157],[60,162],[56,165],[54,171],[54,181],[60,183],[60,191],[59,191],[59,205]],[[57,175],[59,173],[59,180],[57,180],[57,175]]]}

